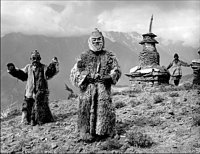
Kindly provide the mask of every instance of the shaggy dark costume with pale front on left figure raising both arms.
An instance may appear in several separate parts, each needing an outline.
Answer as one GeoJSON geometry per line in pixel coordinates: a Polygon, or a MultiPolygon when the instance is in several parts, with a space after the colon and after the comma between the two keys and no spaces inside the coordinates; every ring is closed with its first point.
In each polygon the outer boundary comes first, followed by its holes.
{"type": "MultiPolygon", "coordinates": [[[[9,63],[8,66],[10,65],[13,64],[9,63]]],[[[25,122],[32,125],[52,122],[47,80],[58,73],[58,63],[53,62],[49,66],[42,63],[38,63],[37,66],[28,64],[23,69],[12,69],[8,73],[21,81],[27,81],[22,104],[22,113],[26,113],[25,122]]]]}

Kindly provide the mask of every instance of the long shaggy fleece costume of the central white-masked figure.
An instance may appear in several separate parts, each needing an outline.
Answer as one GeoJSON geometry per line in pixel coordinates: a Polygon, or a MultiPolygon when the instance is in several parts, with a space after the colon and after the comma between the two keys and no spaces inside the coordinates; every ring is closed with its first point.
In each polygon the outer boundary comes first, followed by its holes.
{"type": "Polygon", "coordinates": [[[120,76],[116,57],[102,49],[83,52],[72,68],[71,82],[80,88],[77,124],[81,139],[87,140],[88,135],[115,134],[116,115],[112,106],[111,85],[116,84],[120,76]],[[100,77],[95,79],[97,73],[100,77]]]}

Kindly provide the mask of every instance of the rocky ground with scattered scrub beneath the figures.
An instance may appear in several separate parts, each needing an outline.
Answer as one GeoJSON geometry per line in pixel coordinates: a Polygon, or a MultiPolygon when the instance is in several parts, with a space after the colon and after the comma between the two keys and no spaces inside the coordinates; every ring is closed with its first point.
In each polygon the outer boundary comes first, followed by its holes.
{"type": "Polygon", "coordinates": [[[20,113],[1,119],[1,153],[200,153],[200,90],[158,87],[113,92],[115,138],[77,142],[77,100],[50,102],[55,122],[23,126],[20,113]]]}

